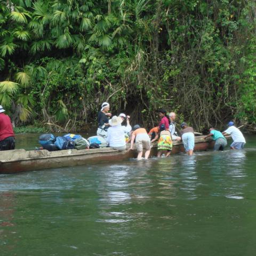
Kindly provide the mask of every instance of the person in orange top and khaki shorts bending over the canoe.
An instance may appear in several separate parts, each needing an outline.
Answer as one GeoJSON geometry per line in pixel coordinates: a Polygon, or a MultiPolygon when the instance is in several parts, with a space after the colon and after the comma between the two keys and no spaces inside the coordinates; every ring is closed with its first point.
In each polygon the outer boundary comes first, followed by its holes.
{"type": "Polygon", "coordinates": [[[134,140],[136,140],[135,146],[138,151],[137,159],[142,159],[143,149],[146,149],[145,159],[148,159],[151,149],[150,138],[146,129],[141,128],[138,124],[133,126],[130,150],[133,149],[134,140]]]}

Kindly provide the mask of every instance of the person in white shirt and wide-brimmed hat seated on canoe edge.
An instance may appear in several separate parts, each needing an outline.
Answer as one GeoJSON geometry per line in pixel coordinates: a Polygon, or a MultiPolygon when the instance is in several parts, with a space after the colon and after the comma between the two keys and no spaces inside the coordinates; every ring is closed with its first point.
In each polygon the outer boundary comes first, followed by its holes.
{"type": "Polygon", "coordinates": [[[120,116],[113,116],[109,120],[107,142],[109,147],[123,151],[126,149],[125,132],[122,127],[123,119],[120,116]]]}

